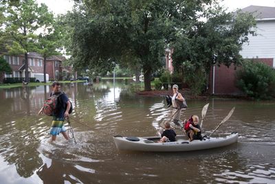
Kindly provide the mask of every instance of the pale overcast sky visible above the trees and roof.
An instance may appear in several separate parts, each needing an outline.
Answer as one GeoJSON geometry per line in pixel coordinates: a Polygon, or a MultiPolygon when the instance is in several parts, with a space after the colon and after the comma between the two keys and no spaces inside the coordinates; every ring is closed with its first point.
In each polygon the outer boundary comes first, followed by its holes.
{"type": "MultiPolygon", "coordinates": [[[[68,10],[72,10],[74,5],[73,0],[37,0],[37,2],[45,3],[54,14],[65,14],[68,10]]],[[[249,5],[275,7],[275,0],[225,0],[221,4],[228,7],[228,10],[234,11],[237,8],[245,8],[249,5]]]]}

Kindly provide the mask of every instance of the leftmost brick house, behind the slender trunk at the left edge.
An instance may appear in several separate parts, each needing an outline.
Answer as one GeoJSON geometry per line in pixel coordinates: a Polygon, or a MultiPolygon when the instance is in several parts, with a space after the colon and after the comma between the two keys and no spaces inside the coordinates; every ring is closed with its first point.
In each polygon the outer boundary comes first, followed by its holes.
{"type": "MultiPolygon", "coordinates": [[[[12,68],[11,74],[3,73],[0,75],[0,82],[4,78],[25,78],[25,58],[24,55],[10,56],[4,54],[3,58],[10,64],[12,68]]],[[[43,58],[36,52],[28,53],[29,77],[35,78],[36,76],[43,75],[43,58]]]]}

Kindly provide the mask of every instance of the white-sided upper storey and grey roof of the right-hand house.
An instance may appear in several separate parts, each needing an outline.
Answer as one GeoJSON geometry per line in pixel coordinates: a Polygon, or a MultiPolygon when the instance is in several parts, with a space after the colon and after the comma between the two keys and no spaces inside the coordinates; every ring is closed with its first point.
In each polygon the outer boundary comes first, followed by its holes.
{"type": "Polygon", "coordinates": [[[249,43],[240,51],[243,58],[273,60],[275,67],[275,7],[250,5],[243,12],[252,12],[256,17],[256,36],[249,36],[249,43]]]}

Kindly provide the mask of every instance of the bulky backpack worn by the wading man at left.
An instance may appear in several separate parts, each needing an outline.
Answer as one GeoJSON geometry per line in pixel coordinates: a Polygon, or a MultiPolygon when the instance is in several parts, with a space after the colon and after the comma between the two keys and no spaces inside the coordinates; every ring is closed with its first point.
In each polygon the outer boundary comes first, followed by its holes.
{"type": "MultiPolygon", "coordinates": [[[[49,116],[53,116],[56,111],[58,111],[58,108],[60,108],[60,104],[61,104],[61,100],[60,100],[60,96],[64,94],[64,92],[58,93],[56,94],[51,94],[51,96],[49,98],[47,98],[47,100],[45,100],[44,104],[43,104],[43,113],[45,115],[49,115],[49,116]]],[[[72,113],[73,111],[73,106],[72,106],[72,102],[71,103],[71,108],[69,109],[69,114],[72,113]]],[[[64,107],[65,109],[67,108],[67,104],[64,107]]]]}

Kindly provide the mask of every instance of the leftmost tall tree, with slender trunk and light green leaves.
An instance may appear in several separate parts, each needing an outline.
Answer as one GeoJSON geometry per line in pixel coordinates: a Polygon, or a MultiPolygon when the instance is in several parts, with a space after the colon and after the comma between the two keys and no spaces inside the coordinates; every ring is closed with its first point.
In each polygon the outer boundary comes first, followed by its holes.
{"type": "Polygon", "coordinates": [[[48,10],[45,4],[33,0],[10,3],[5,10],[4,39],[10,54],[24,54],[25,80],[29,81],[28,52],[36,49],[37,31],[47,25],[48,10]]]}

